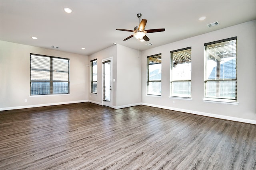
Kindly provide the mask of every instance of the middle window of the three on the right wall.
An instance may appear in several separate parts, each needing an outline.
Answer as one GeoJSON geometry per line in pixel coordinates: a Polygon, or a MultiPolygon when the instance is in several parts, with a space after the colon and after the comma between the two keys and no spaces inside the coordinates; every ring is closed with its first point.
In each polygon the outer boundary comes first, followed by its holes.
{"type": "Polygon", "coordinates": [[[191,47],[171,51],[170,96],[191,98],[191,47]]]}

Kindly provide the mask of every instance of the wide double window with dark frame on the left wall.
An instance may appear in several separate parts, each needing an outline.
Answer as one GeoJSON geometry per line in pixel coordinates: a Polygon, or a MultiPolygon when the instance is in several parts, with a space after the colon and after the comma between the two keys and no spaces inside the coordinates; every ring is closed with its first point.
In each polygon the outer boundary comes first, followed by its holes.
{"type": "Polygon", "coordinates": [[[30,95],[68,93],[69,59],[30,54],[30,95]]]}

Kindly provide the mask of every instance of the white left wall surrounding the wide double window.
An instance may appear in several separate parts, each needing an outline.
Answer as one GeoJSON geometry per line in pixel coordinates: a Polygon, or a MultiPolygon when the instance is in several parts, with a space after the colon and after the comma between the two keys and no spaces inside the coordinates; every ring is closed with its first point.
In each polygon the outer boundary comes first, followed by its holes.
{"type": "Polygon", "coordinates": [[[88,56],[6,41],[0,56],[1,110],[88,101],[88,56]],[[70,94],[30,96],[30,53],[70,59],[70,94]]]}

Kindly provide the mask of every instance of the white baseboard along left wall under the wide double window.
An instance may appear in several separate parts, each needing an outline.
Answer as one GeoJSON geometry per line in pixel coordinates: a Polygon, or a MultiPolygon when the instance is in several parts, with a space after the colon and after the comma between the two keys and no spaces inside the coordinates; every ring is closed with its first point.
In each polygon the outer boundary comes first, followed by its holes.
{"type": "Polygon", "coordinates": [[[3,107],[3,108],[0,108],[0,111],[14,110],[14,109],[26,109],[26,108],[43,107],[43,106],[55,106],[55,105],[61,105],[61,104],[73,104],[73,103],[82,103],[82,102],[88,102],[88,100],[78,100],[78,101],[71,101],[71,102],[58,102],[58,103],[49,103],[49,104],[36,104],[36,105],[16,106],[16,107],[3,107]]]}

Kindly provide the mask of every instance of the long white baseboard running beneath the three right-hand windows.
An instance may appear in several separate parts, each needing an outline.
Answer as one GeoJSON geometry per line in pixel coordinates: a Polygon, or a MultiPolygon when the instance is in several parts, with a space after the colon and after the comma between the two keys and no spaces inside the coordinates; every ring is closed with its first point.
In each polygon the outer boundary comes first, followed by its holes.
{"type": "Polygon", "coordinates": [[[175,107],[167,107],[167,106],[160,106],[160,105],[154,105],[154,104],[142,103],[142,105],[145,105],[145,106],[152,106],[152,107],[158,107],[158,108],[168,109],[168,110],[174,110],[174,111],[181,111],[181,112],[185,112],[185,113],[192,113],[192,114],[195,114],[195,115],[214,117],[214,118],[218,118],[218,119],[225,119],[225,120],[231,120],[231,121],[239,121],[239,122],[243,122],[243,123],[250,123],[250,124],[256,125],[256,120],[251,120],[251,119],[243,119],[243,118],[239,118],[239,117],[232,117],[232,116],[225,116],[225,115],[217,115],[217,114],[205,113],[205,112],[201,112],[201,111],[193,111],[193,110],[187,110],[187,109],[179,109],[179,108],[175,108],[175,107]]]}

